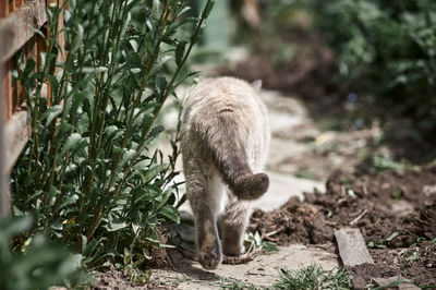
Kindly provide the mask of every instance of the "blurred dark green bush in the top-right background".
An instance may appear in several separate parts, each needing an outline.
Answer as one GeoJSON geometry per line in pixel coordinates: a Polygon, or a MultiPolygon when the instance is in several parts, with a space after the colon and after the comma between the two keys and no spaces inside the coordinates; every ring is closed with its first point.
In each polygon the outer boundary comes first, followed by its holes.
{"type": "Polygon", "coordinates": [[[436,2],[301,1],[336,49],[340,81],[436,128],[436,2]],[[401,106],[396,106],[401,104],[401,106]]]}

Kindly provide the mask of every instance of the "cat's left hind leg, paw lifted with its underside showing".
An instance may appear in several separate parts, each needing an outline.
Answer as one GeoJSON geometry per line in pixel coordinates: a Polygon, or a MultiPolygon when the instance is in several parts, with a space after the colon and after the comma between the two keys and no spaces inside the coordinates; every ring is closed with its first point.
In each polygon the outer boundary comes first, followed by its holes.
{"type": "Polygon", "coordinates": [[[222,262],[217,221],[225,195],[216,178],[196,171],[191,171],[186,190],[195,218],[198,262],[205,269],[216,269],[222,262]]]}

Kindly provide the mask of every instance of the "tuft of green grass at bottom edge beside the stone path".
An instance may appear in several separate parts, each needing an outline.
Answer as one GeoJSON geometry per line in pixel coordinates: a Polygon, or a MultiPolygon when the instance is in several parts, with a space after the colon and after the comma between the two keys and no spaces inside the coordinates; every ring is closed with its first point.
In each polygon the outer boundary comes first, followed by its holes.
{"type": "Polygon", "coordinates": [[[272,289],[351,289],[351,277],[344,268],[324,271],[318,265],[298,270],[280,269],[272,289]]]}

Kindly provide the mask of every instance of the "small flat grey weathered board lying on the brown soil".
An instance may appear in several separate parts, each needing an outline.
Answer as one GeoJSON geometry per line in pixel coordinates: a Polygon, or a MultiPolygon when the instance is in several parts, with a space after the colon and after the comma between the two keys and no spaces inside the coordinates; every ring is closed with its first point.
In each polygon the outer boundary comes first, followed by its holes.
{"type": "Polygon", "coordinates": [[[356,266],[364,263],[374,264],[359,229],[342,228],[335,230],[339,255],[346,266],[356,266]]]}

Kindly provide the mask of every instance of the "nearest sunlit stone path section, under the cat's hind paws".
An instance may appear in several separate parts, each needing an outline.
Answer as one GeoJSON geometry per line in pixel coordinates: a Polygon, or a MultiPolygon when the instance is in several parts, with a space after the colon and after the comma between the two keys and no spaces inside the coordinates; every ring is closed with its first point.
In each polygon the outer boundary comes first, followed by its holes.
{"type": "MultiPolygon", "coordinates": [[[[255,286],[264,289],[278,279],[279,269],[291,270],[316,263],[325,270],[338,266],[337,257],[322,249],[294,244],[279,247],[274,254],[263,254],[247,264],[222,264],[214,271],[206,271],[197,262],[181,256],[174,259],[174,270],[155,269],[152,279],[175,289],[222,289],[223,286],[255,286]]],[[[239,289],[239,288],[237,288],[239,289]]]]}

